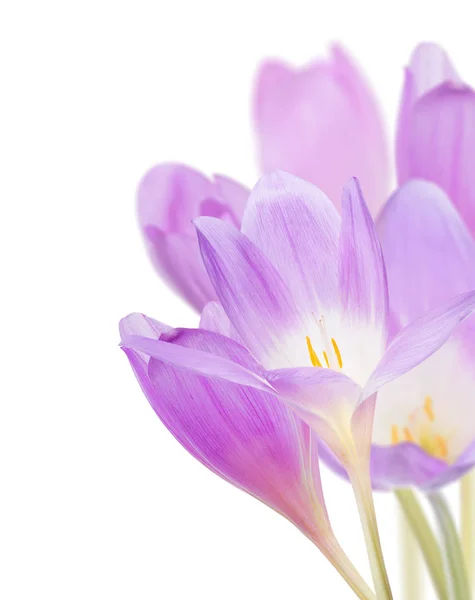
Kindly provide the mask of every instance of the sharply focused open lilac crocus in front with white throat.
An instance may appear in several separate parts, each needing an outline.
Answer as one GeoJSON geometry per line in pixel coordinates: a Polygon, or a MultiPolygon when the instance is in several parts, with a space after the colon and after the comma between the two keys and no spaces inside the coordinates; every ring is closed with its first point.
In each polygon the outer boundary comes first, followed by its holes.
{"type": "MultiPolygon", "coordinates": [[[[208,327],[219,321],[221,331],[235,332],[239,343],[217,333],[200,341],[203,333],[191,331],[186,339],[193,343],[174,344],[166,335],[157,339],[126,331],[124,348],[141,357],[142,372],[154,385],[165,381],[167,387],[158,388],[156,398],[165,402],[162,398],[171,394],[170,411],[186,390],[197,397],[183,372],[202,381],[204,390],[219,381],[237,386],[236,393],[253,388],[275,397],[327,444],[352,479],[360,509],[371,510],[376,392],[439,350],[475,308],[475,293],[462,294],[409,323],[386,347],[385,266],[356,181],[344,191],[341,219],[318,188],[275,173],[251,192],[241,231],[212,217],[201,217],[195,225],[223,310],[221,317],[214,311],[208,327]],[[158,371],[157,362],[164,365],[158,371]],[[167,369],[180,370],[184,383],[174,379],[167,384],[167,369]]],[[[148,379],[139,379],[150,399],[148,379]]],[[[217,389],[230,394],[226,387],[217,389]]],[[[199,411],[191,414],[199,417],[199,411]]],[[[254,430],[251,437],[255,435],[254,430]]],[[[193,443],[188,446],[194,449],[193,443]]],[[[380,556],[377,536],[370,528],[365,533],[374,546],[370,556],[376,593],[389,597],[374,563],[380,556]]]]}

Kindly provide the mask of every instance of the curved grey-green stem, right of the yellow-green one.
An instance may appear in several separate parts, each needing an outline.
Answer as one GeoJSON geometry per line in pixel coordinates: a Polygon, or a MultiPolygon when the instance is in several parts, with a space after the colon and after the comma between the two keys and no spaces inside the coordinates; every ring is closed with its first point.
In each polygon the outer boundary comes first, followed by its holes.
{"type": "Polygon", "coordinates": [[[450,509],[440,492],[431,492],[428,494],[428,498],[434,509],[445,547],[445,569],[449,586],[449,598],[453,600],[470,600],[470,586],[462,544],[450,509]]]}

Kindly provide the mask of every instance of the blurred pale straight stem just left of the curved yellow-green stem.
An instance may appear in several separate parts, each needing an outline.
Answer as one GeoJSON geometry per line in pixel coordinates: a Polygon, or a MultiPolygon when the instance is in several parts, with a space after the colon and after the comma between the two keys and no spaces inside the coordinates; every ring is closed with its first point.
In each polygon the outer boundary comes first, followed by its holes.
{"type": "Polygon", "coordinates": [[[423,598],[424,581],[422,578],[422,554],[412,529],[406,519],[404,511],[399,508],[399,533],[401,544],[401,564],[403,579],[403,598],[414,600],[423,598]]]}

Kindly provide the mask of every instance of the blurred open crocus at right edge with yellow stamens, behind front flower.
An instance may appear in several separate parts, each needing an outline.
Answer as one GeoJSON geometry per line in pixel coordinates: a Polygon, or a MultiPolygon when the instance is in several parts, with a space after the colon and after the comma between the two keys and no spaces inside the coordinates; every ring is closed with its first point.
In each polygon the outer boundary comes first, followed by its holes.
{"type": "MultiPolygon", "coordinates": [[[[447,195],[411,181],[378,219],[393,333],[454,294],[475,289],[475,242],[447,195]],[[402,239],[403,238],[403,239],[402,239]]],[[[381,390],[373,442],[380,487],[434,488],[475,464],[475,323],[381,390]]]]}

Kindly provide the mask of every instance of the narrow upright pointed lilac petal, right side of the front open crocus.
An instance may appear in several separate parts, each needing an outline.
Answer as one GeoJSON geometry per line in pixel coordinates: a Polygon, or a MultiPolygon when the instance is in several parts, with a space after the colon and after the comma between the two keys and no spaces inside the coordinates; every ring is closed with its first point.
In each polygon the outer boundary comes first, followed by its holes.
{"type": "Polygon", "coordinates": [[[374,223],[359,182],[352,179],[343,191],[340,237],[342,311],[350,322],[386,325],[388,289],[386,270],[374,223]]]}

